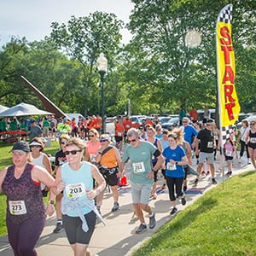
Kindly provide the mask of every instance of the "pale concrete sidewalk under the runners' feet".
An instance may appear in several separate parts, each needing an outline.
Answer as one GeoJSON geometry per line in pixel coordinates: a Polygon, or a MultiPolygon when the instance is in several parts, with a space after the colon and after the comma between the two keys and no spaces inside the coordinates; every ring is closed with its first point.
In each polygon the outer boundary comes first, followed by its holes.
{"type": "MultiPolygon", "coordinates": [[[[215,165],[218,166],[218,161],[215,165]]],[[[236,163],[233,166],[233,175],[248,170],[253,170],[252,165],[240,165],[236,163]]],[[[225,167],[225,172],[227,172],[225,167]]],[[[224,177],[226,179],[227,177],[224,177]]],[[[195,188],[192,188],[192,182],[195,180],[195,176],[188,177],[188,193],[186,194],[187,204],[182,206],[180,202],[177,202],[178,211],[182,211],[185,207],[189,207],[194,201],[196,201],[201,195],[208,189],[215,187],[212,185],[211,176],[202,176],[200,181],[195,188]]],[[[216,180],[221,183],[223,177],[221,173],[216,174],[216,180]]],[[[159,187],[162,181],[159,182],[159,187]]],[[[222,184],[219,184],[221,188],[222,184]]],[[[91,255],[101,256],[123,256],[131,255],[131,253],[139,247],[143,241],[148,239],[154,234],[163,224],[172,219],[170,215],[171,202],[169,200],[167,189],[158,189],[158,197],[156,200],[150,201],[150,206],[154,210],[156,218],[156,226],[154,230],[146,230],[141,235],[136,235],[135,230],[137,229],[139,222],[137,219],[132,218],[133,208],[131,202],[131,192],[129,186],[119,191],[119,211],[111,212],[113,207],[113,197],[108,191],[104,195],[102,205],[102,216],[106,221],[106,226],[102,223],[96,224],[96,230],[91,238],[89,250],[91,255]]],[[[178,214],[178,213],[177,213],[178,214]]],[[[37,251],[38,255],[41,256],[70,256],[73,255],[73,251],[69,246],[66,238],[65,231],[61,231],[59,234],[54,234],[52,231],[55,229],[55,216],[48,218],[45,225],[42,236],[38,241],[37,251]]],[[[146,218],[148,224],[148,218],[146,218]]],[[[8,237],[0,237],[0,255],[10,256],[14,255],[12,248],[9,246],[8,237]]]]}

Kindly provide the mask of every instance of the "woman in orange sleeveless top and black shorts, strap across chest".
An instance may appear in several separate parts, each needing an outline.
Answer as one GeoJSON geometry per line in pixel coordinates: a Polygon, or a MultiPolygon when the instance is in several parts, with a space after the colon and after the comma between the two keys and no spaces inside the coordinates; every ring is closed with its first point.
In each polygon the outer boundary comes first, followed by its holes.
{"type": "MultiPolygon", "coordinates": [[[[96,162],[100,164],[101,172],[106,180],[106,183],[110,186],[113,195],[113,208],[112,212],[119,210],[119,192],[118,183],[119,177],[121,177],[120,165],[121,158],[119,150],[115,147],[109,146],[111,139],[108,134],[102,134],[100,138],[101,148],[97,150],[96,162]]],[[[104,191],[97,196],[96,207],[98,209],[102,206],[104,191]]]]}

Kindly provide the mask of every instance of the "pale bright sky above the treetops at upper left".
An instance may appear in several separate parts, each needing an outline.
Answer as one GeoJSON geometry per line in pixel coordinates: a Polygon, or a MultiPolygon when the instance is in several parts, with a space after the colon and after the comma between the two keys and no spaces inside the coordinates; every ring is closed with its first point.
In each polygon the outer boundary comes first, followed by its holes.
{"type": "MultiPolygon", "coordinates": [[[[39,41],[49,36],[52,22],[67,24],[72,15],[95,11],[113,13],[127,23],[132,7],[130,0],[0,0],[0,45],[13,35],[39,41]]],[[[129,43],[131,34],[125,29],[121,33],[122,43],[129,43]]]]}

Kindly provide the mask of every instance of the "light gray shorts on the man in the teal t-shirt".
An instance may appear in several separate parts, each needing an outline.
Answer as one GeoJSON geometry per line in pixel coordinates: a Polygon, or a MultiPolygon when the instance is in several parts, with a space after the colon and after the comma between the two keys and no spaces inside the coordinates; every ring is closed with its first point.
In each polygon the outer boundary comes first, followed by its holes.
{"type": "Polygon", "coordinates": [[[131,198],[134,204],[142,203],[148,205],[150,193],[152,190],[152,183],[138,184],[131,182],[131,198]]]}

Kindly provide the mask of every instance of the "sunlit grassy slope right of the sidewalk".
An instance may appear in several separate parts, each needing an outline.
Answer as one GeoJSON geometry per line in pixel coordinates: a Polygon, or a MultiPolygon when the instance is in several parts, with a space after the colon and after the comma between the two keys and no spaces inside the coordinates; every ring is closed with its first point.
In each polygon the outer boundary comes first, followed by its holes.
{"type": "Polygon", "coordinates": [[[132,255],[256,255],[255,184],[256,172],[218,184],[132,255]]]}

